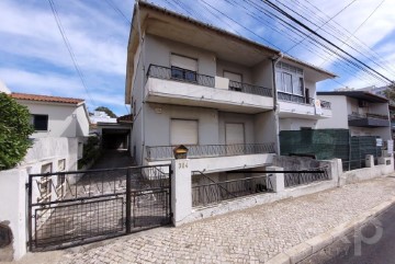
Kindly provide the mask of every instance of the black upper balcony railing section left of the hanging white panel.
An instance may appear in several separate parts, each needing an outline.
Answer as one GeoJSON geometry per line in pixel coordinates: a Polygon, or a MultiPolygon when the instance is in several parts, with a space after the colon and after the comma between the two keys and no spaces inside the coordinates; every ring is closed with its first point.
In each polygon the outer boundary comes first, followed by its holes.
{"type": "Polygon", "coordinates": [[[177,80],[183,82],[191,82],[203,87],[215,87],[215,79],[211,76],[199,74],[195,71],[185,70],[177,67],[167,68],[157,65],[149,65],[148,77],[154,77],[165,80],[177,80]]]}

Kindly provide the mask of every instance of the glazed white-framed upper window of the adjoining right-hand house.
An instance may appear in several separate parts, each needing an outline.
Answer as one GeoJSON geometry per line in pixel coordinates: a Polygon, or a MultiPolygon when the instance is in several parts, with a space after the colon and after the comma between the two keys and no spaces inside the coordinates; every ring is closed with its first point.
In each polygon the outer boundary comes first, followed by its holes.
{"type": "Polygon", "coordinates": [[[275,84],[281,92],[304,95],[303,70],[292,65],[279,62],[275,66],[275,84]]]}

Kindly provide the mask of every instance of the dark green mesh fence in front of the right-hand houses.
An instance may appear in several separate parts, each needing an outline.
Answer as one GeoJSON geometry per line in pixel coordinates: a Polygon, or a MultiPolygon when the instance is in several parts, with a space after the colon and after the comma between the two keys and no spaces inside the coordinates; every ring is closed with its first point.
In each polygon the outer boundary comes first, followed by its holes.
{"type": "Polygon", "coordinates": [[[381,156],[376,137],[351,137],[348,129],[306,129],[280,131],[281,154],[314,156],[318,160],[338,158],[343,170],[363,168],[366,154],[373,154],[375,163],[381,156]]]}

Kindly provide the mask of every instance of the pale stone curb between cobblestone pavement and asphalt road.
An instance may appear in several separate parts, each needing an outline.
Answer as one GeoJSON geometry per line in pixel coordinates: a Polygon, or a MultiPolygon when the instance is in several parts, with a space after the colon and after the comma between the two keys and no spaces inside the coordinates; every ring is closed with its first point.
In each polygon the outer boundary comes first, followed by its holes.
{"type": "Polygon", "coordinates": [[[395,197],[391,198],[370,210],[359,215],[354,219],[343,222],[336,228],[328,230],[325,233],[318,234],[307,241],[304,241],[291,249],[286,249],[284,252],[270,259],[267,264],[295,264],[314,253],[320,251],[332,242],[339,240],[341,237],[348,234],[353,229],[361,227],[368,222],[371,218],[376,217],[388,209],[395,204],[395,197]]]}

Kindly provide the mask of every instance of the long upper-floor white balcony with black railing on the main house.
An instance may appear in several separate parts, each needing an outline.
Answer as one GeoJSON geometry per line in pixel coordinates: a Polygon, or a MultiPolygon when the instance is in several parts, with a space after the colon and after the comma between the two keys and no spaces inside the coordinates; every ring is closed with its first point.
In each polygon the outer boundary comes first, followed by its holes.
{"type": "Polygon", "coordinates": [[[150,65],[146,101],[212,107],[238,113],[260,113],[273,108],[269,88],[234,82],[181,68],[150,65]]]}

